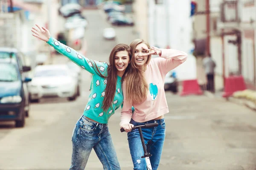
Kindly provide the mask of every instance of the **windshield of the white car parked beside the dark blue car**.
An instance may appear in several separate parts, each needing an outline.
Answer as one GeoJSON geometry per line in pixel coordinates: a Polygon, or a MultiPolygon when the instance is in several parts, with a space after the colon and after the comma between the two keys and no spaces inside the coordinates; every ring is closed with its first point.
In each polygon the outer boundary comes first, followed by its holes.
{"type": "Polygon", "coordinates": [[[35,72],[35,77],[58,77],[58,76],[67,76],[67,71],[64,69],[48,69],[40,70],[35,72]]]}

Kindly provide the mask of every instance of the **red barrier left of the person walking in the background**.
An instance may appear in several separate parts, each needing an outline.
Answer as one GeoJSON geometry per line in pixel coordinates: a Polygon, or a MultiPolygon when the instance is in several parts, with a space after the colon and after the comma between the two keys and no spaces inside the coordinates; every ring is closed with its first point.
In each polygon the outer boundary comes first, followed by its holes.
{"type": "Polygon", "coordinates": [[[186,96],[189,94],[196,94],[196,95],[202,95],[203,92],[201,88],[198,85],[197,79],[192,80],[184,80],[182,82],[182,92],[180,93],[180,96],[186,96]]]}

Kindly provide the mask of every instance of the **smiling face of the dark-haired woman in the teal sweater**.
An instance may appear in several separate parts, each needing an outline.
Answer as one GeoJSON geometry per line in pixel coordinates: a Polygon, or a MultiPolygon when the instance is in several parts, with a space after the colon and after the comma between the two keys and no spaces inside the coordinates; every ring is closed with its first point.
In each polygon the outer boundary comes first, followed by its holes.
{"type": "Polygon", "coordinates": [[[127,68],[130,58],[127,51],[118,51],[114,56],[115,67],[117,69],[117,75],[122,77],[125,73],[125,69],[127,68]]]}

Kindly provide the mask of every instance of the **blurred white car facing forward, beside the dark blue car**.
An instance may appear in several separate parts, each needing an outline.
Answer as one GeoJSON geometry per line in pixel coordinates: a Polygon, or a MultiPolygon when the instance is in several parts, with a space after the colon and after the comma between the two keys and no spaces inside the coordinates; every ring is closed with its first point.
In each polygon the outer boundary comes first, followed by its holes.
{"type": "Polygon", "coordinates": [[[47,97],[75,100],[79,96],[78,80],[67,65],[38,65],[29,83],[29,96],[32,102],[47,97]]]}

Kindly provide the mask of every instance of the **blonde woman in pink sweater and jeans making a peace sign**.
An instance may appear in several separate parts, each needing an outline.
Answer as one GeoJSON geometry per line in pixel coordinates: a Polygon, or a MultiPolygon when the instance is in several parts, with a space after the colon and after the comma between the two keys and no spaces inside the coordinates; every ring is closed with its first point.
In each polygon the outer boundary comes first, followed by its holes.
{"type": "Polygon", "coordinates": [[[145,170],[147,165],[138,129],[133,126],[158,123],[157,127],[143,128],[143,137],[149,153],[151,166],[157,170],[165,139],[165,120],[169,112],[164,91],[166,74],[186,61],[187,54],[174,49],[160,49],[140,39],[130,44],[131,68],[123,82],[124,102],[120,127],[128,132],[128,143],[134,170],[145,170]],[[159,57],[151,59],[151,54],[159,57]],[[134,107],[134,112],[132,111],[134,107]]]}

